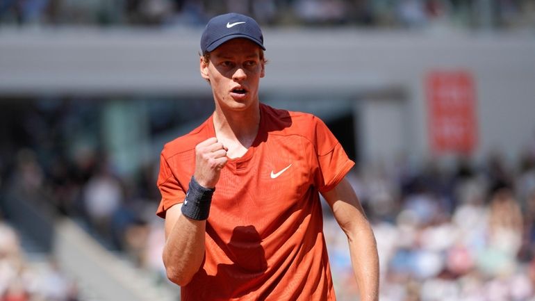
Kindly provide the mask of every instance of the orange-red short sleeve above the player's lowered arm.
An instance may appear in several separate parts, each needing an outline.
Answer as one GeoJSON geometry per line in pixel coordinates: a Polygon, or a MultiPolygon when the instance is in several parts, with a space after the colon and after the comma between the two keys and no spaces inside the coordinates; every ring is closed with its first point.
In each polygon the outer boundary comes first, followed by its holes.
{"type": "Polygon", "coordinates": [[[314,117],[313,127],[318,163],[314,181],[318,190],[325,192],[338,185],[355,163],[347,157],[342,145],[318,117],[314,117]]]}

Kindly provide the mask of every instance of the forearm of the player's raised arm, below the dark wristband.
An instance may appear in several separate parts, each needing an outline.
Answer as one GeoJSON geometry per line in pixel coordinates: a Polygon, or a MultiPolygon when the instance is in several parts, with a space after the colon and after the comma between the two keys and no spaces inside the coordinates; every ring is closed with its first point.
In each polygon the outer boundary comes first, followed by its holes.
{"type": "Polygon", "coordinates": [[[188,284],[204,259],[206,220],[180,214],[167,234],[163,263],[167,277],[179,286],[188,284]]]}

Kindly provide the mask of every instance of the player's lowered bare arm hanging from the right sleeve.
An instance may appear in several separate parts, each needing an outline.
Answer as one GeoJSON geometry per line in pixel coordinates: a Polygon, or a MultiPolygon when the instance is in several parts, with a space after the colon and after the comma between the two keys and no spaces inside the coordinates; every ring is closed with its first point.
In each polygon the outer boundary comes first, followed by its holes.
{"type": "Polygon", "coordinates": [[[322,193],[349,243],[349,254],[362,301],[379,300],[379,257],[370,223],[347,179],[322,193]]]}

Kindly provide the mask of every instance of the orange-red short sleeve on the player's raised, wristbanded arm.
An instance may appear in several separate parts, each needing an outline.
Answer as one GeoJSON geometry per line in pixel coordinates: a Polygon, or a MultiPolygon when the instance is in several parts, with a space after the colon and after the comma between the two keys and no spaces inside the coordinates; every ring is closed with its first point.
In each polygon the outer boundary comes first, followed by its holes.
{"type": "Polygon", "coordinates": [[[171,206],[183,202],[186,198],[186,190],[181,186],[179,181],[174,176],[169,163],[163,156],[160,156],[160,172],[158,174],[158,189],[162,195],[162,199],[156,215],[165,218],[165,212],[171,206]]]}

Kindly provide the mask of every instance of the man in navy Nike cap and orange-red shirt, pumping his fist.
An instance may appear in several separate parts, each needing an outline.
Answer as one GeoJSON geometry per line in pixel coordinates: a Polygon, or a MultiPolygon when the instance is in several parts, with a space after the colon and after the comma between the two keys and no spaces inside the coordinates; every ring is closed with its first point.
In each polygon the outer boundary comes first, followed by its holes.
{"type": "Polygon", "coordinates": [[[336,300],[319,193],[347,234],[361,300],[377,300],[372,229],[345,174],[354,163],[317,117],[258,100],[265,73],[254,19],[214,17],[200,72],[215,111],[161,154],[157,214],[167,276],[190,300],[336,300]]]}

